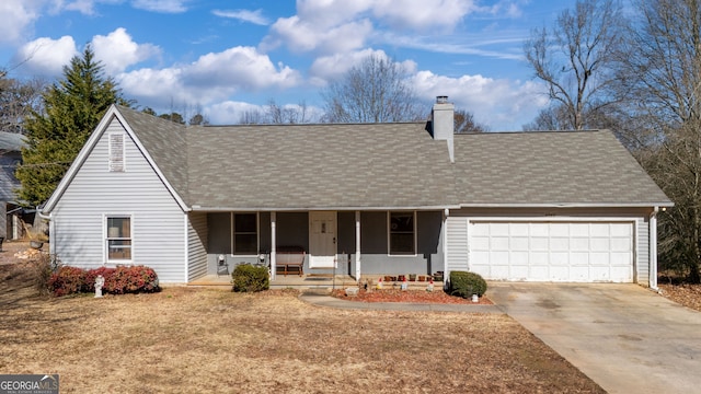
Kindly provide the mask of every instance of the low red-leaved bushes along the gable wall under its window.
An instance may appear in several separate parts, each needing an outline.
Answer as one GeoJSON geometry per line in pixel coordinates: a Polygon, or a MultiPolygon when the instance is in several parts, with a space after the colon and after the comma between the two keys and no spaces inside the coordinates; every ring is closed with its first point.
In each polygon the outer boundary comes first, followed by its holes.
{"type": "Polygon", "coordinates": [[[126,294],[159,291],[158,275],[152,268],[130,266],[94,269],[81,269],[62,266],[51,275],[48,281],[49,291],[56,296],[68,296],[78,292],[95,291],[95,278],[99,275],[105,279],[103,292],[126,294]]]}

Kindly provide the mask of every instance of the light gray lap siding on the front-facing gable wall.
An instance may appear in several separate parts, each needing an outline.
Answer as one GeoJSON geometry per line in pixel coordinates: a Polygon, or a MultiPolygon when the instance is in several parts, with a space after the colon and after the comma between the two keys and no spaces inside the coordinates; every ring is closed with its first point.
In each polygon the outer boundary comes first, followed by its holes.
{"type": "Polygon", "coordinates": [[[130,216],[130,264],[153,268],[161,282],[185,282],[185,213],[126,134],[125,171],[108,172],[110,132],[124,128],[112,120],[51,212],[55,253],[72,266],[106,265],[104,216],[130,216]]]}

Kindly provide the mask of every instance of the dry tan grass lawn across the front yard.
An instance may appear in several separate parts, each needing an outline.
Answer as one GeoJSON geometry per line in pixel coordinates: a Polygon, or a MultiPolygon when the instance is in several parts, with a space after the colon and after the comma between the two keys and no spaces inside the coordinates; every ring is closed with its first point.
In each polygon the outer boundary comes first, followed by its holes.
{"type": "Polygon", "coordinates": [[[602,390],[501,314],[333,310],[296,291],[47,299],[0,266],[0,371],[62,393],[602,390]]]}

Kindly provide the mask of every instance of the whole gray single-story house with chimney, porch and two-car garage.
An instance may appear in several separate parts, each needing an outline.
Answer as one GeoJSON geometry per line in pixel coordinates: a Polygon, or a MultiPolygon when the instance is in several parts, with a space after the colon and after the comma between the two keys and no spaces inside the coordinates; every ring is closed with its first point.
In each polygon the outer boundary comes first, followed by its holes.
{"type": "Polygon", "coordinates": [[[445,99],[427,123],[354,125],[183,126],[113,106],[42,209],[50,246],[162,282],[215,274],[219,255],[275,268],[301,246],[304,274],[358,280],[656,287],[655,215],[673,204],[610,131],[453,135],[452,117],[445,99]]]}

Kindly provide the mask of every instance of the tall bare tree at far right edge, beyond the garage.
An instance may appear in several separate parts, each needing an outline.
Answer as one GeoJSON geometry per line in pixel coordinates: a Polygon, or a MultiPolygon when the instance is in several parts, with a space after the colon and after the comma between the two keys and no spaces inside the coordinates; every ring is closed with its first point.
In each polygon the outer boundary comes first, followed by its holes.
{"type": "Polygon", "coordinates": [[[701,281],[701,3],[640,0],[620,81],[647,124],[639,160],[675,201],[660,215],[660,262],[701,281]],[[652,130],[652,132],[650,132],[652,130]],[[652,137],[651,137],[652,136],[652,137]]]}

